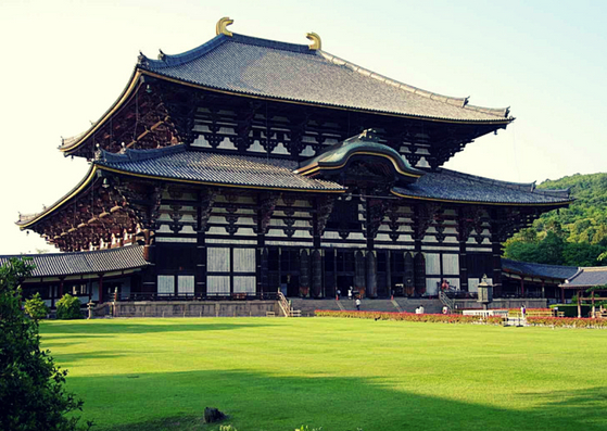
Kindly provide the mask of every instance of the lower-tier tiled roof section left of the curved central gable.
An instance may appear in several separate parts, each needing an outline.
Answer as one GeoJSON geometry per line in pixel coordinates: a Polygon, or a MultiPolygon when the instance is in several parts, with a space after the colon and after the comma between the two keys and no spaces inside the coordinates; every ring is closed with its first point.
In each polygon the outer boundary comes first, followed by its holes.
{"type": "Polygon", "coordinates": [[[341,191],[337,182],[294,174],[298,163],[240,154],[218,154],[173,145],[156,150],[103,152],[96,164],[127,174],[184,181],[288,190],[341,191]]]}

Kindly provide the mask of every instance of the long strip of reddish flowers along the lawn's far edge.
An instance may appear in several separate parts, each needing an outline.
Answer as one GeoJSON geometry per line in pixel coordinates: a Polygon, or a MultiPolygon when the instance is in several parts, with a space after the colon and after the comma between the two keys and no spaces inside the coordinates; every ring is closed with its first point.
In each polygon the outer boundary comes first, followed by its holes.
{"type": "Polygon", "coordinates": [[[389,312],[332,312],[317,309],[314,312],[318,317],[345,317],[353,319],[375,320],[404,320],[423,321],[433,324],[488,324],[502,325],[502,318],[496,316],[463,316],[459,314],[415,314],[415,313],[389,313],[389,312]]]}

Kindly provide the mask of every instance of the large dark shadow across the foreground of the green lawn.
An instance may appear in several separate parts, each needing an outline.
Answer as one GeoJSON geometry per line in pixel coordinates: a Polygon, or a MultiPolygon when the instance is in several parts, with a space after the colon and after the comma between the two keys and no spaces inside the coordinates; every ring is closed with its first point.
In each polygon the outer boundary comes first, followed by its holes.
{"type": "Polygon", "coordinates": [[[509,409],[489,405],[498,394],[477,404],[396,391],[376,379],[248,371],[72,378],[69,385],[86,400],[85,418],[111,431],[217,430],[201,424],[204,407],[228,414],[225,423],[239,431],[292,431],[301,424],[325,431],[607,429],[605,386],[510,394],[522,402],[533,397],[533,406],[509,409]]]}

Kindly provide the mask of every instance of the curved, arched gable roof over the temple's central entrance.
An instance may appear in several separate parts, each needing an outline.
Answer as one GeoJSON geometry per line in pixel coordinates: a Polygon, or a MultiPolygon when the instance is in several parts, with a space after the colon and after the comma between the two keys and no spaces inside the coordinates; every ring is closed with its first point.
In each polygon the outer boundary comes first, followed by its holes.
{"type": "Polygon", "coordinates": [[[395,174],[407,182],[415,181],[425,174],[413,168],[396,150],[379,143],[375,131],[370,129],[329,147],[315,157],[303,161],[295,173],[307,176],[326,169],[341,169],[355,155],[387,159],[391,162],[395,174]]]}

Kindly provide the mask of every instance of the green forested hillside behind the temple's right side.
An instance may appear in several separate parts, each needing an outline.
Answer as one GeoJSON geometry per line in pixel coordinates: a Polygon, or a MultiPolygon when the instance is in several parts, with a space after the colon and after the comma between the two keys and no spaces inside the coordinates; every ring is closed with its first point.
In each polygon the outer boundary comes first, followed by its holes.
{"type": "Polygon", "coordinates": [[[607,174],[547,180],[540,189],[571,189],[568,208],[543,214],[504,244],[504,257],[553,265],[607,265],[607,174]]]}

